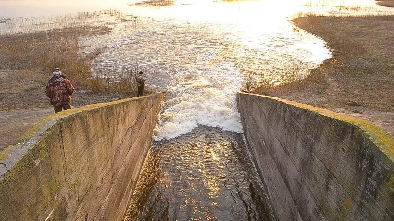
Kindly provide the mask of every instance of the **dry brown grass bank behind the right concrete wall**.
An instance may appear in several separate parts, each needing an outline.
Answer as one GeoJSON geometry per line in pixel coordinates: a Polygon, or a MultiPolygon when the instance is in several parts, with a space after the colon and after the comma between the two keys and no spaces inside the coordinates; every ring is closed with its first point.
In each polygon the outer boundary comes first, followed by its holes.
{"type": "Polygon", "coordinates": [[[394,112],[394,16],[302,17],[299,28],[322,37],[333,57],[307,79],[269,88],[271,96],[318,107],[350,107],[394,112]]]}

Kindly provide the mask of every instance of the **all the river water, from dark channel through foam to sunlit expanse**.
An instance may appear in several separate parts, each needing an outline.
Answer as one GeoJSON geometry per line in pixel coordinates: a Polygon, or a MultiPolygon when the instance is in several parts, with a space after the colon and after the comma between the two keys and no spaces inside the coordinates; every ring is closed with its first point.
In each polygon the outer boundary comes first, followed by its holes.
{"type": "Polygon", "coordinates": [[[322,39],[290,22],[298,12],[393,13],[372,0],[185,0],[162,7],[129,2],[1,1],[0,17],[115,8],[134,18],[82,42],[106,46],[94,66],[159,70],[152,87],[167,91],[130,220],[272,220],[236,110],[244,76],[284,83],[307,77],[331,57],[322,39]]]}

